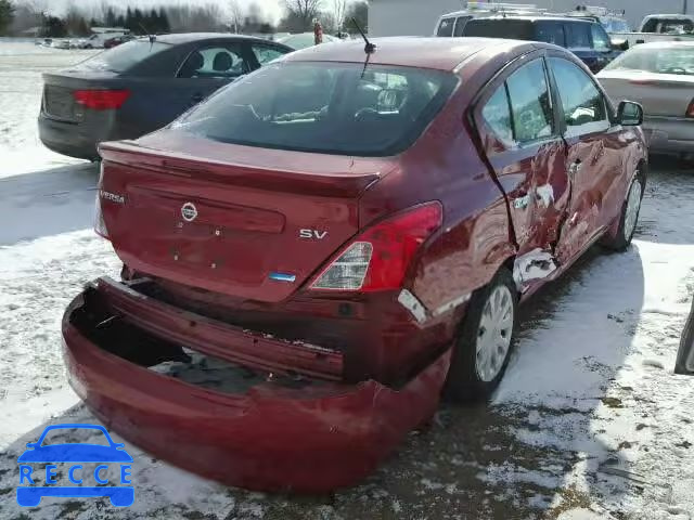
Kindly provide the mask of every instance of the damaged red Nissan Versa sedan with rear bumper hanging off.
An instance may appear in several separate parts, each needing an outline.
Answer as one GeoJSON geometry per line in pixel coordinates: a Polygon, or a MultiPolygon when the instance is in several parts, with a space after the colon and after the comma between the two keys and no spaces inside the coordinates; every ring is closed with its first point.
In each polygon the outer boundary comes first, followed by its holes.
{"type": "Polygon", "coordinates": [[[442,392],[493,391],[519,302],[629,245],[638,104],[550,44],[374,43],[286,55],[101,145],[123,280],[70,303],[64,353],[125,439],[231,485],[351,485],[442,392]]]}

